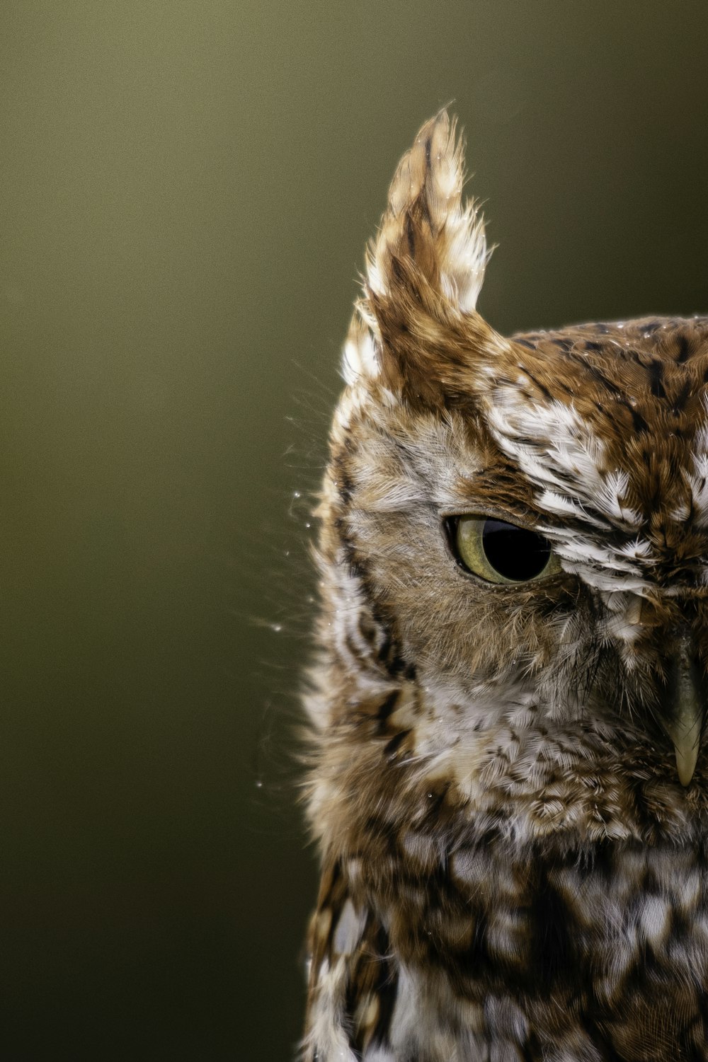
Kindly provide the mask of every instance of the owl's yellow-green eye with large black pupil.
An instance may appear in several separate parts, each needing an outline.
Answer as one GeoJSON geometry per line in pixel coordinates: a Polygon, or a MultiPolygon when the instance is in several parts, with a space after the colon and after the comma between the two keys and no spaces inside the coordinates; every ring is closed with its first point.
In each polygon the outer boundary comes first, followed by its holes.
{"type": "Polygon", "coordinates": [[[526,583],[560,571],[551,543],[493,516],[456,516],[451,545],[462,567],[490,583],[526,583]]]}

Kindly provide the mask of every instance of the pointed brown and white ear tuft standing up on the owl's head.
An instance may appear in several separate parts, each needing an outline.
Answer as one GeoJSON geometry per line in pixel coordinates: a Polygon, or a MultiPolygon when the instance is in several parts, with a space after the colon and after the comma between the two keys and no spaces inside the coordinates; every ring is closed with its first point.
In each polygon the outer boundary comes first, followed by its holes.
{"type": "Polygon", "coordinates": [[[508,343],[475,310],[489,258],[474,202],[462,204],[462,142],[441,110],[403,156],[367,255],[344,377],[381,376],[407,400],[470,397],[474,365],[508,343]]]}

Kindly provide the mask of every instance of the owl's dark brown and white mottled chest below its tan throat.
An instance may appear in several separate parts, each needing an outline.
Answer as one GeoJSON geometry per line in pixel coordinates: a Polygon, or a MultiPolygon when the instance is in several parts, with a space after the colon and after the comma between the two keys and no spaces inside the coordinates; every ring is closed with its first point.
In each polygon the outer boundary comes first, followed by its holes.
{"type": "Polygon", "coordinates": [[[522,841],[504,817],[429,792],[437,806],[406,825],[387,825],[378,799],[340,835],[314,921],[314,962],[347,970],[352,1059],[708,1058],[698,827],[522,841]]]}

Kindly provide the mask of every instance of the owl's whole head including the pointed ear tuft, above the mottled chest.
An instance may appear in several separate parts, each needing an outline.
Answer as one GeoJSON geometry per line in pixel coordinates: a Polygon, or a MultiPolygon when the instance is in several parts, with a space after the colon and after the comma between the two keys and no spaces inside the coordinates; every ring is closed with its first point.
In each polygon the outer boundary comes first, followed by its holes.
{"type": "Polygon", "coordinates": [[[462,179],[443,112],[369,249],[319,510],[314,718],[355,740],[395,716],[388,755],[427,785],[503,786],[551,819],[569,777],[586,810],[593,786],[698,799],[708,319],[501,336],[462,179]]]}

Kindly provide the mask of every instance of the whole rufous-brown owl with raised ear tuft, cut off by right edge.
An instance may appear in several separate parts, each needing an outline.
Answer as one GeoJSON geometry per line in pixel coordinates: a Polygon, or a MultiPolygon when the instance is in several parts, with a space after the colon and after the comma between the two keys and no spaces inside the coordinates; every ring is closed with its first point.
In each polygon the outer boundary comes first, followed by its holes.
{"type": "Polygon", "coordinates": [[[319,497],[306,1062],[708,1059],[708,318],[504,338],[441,113],[319,497]]]}

